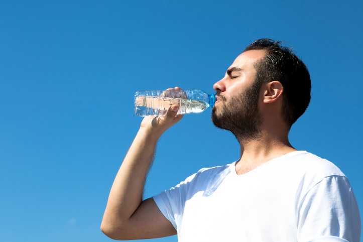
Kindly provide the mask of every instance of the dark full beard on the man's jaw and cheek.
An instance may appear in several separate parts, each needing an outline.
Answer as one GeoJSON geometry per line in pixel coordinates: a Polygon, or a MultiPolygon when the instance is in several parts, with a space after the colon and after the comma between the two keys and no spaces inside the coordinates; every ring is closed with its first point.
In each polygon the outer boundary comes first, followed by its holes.
{"type": "Polygon", "coordinates": [[[218,110],[215,106],[212,108],[213,124],[217,128],[232,132],[239,142],[259,138],[262,124],[258,106],[260,87],[261,84],[254,81],[244,93],[228,100],[217,92],[222,105],[218,110]]]}

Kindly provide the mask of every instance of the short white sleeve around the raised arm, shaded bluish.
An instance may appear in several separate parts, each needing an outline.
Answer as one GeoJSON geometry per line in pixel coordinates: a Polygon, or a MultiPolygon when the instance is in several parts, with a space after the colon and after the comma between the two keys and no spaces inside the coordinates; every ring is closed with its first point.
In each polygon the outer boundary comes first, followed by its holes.
{"type": "Polygon", "coordinates": [[[175,229],[177,229],[178,221],[183,216],[186,196],[190,183],[195,175],[193,174],[177,186],[153,196],[156,205],[163,215],[173,224],[175,229]]]}

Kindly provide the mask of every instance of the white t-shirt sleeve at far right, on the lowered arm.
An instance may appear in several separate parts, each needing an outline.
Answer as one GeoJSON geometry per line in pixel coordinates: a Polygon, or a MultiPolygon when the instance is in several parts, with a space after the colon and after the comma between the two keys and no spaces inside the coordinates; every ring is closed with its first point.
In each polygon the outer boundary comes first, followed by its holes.
{"type": "Polygon", "coordinates": [[[298,241],[359,240],[359,210],[348,179],[325,177],[299,203],[298,241]]]}

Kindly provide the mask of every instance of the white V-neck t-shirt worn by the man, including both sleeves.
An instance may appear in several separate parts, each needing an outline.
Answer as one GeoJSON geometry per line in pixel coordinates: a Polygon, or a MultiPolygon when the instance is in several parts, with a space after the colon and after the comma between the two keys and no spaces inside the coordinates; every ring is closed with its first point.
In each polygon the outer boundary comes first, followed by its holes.
{"type": "Polygon", "coordinates": [[[204,168],[153,197],[178,241],[359,241],[358,206],[346,176],[306,151],[243,175],[235,162],[204,168]]]}

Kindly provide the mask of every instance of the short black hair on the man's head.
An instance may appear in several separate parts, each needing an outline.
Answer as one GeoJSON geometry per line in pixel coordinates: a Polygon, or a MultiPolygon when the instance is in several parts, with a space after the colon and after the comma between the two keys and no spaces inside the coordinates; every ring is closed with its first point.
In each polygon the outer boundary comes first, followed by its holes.
{"type": "Polygon", "coordinates": [[[311,80],[304,62],[290,47],[281,45],[281,41],[259,39],[245,51],[266,50],[266,56],[255,63],[256,80],[260,83],[279,81],[283,88],[282,115],[289,128],[305,112],[310,103],[311,80]]]}

